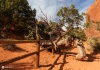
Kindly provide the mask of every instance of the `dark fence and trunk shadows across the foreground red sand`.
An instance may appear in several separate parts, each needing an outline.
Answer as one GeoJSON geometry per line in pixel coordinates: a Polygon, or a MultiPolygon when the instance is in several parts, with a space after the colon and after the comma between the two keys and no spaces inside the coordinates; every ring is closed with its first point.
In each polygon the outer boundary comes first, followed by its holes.
{"type": "MultiPolygon", "coordinates": [[[[77,53],[73,53],[73,52],[61,52],[59,53],[58,57],[55,59],[55,61],[53,62],[53,64],[47,64],[47,65],[40,65],[39,68],[42,67],[48,67],[48,70],[53,70],[53,68],[55,68],[56,65],[60,65],[59,70],[63,70],[64,65],[69,63],[66,61],[66,58],[69,56],[75,56],[77,53]],[[58,63],[59,58],[63,55],[63,61],[58,63]]],[[[95,59],[100,59],[100,57],[98,56],[94,56],[92,54],[87,54],[88,59],[83,60],[83,62],[93,62],[95,59]]],[[[9,68],[7,70],[31,70],[31,69],[35,69],[35,64],[32,63],[13,63],[12,65],[14,68],[9,68]]]]}

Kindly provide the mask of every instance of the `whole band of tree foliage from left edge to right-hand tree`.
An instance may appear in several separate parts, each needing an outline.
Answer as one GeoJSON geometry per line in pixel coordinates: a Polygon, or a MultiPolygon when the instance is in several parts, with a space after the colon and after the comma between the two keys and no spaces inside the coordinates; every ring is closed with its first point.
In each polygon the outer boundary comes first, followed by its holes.
{"type": "MultiPolygon", "coordinates": [[[[43,12],[42,12],[43,13],[43,12]]],[[[43,13],[45,16],[45,14],[43,13]]],[[[42,39],[57,40],[63,36],[72,39],[86,40],[84,30],[81,28],[83,15],[72,4],[69,7],[61,7],[57,16],[59,21],[47,20],[47,16],[41,21],[36,17],[36,10],[32,10],[27,0],[0,0],[0,35],[1,38],[9,38],[10,34],[24,37],[24,39],[36,39],[36,31],[42,39]],[[62,29],[66,28],[66,31],[62,29]]]]}

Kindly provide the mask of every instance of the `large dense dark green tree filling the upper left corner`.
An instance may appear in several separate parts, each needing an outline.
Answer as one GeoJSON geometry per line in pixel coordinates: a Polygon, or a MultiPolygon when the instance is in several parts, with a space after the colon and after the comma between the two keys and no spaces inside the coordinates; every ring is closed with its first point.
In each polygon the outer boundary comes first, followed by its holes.
{"type": "Polygon", "coordinates": [[[12,31],[16,35],[29,34],[29,27],[36,23],[36,10],[27,0],[0,0],[0,30],[12,31]]]}

